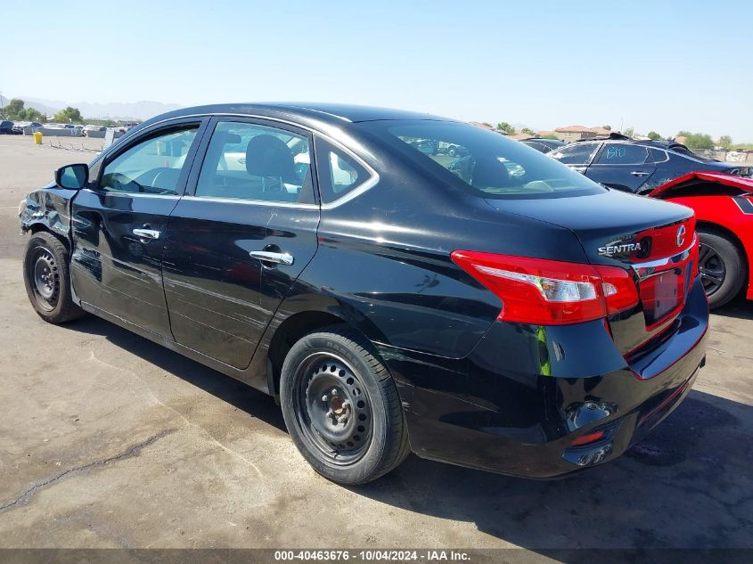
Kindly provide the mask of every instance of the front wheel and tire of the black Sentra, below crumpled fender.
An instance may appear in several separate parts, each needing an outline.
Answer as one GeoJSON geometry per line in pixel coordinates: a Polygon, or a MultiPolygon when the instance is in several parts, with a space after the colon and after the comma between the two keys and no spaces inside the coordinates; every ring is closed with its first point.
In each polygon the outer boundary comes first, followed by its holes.
{"type": "Polygon", "coordinates": [[[52,233],[31,235],[23,257],[23,282],[29,301],[47,323],[66,323],[84,315],[70,291],[70,257],[52,233]]]}

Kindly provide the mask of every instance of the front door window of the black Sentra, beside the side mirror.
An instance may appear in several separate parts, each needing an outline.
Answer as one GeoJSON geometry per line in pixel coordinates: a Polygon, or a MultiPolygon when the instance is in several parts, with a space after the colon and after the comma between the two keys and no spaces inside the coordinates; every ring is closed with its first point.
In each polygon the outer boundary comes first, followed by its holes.
{"type": "Polygon", "coordinates": [[[175,194],[198,125],[153,135],[121,152],[102,170],[102,192],[175,194]]]}

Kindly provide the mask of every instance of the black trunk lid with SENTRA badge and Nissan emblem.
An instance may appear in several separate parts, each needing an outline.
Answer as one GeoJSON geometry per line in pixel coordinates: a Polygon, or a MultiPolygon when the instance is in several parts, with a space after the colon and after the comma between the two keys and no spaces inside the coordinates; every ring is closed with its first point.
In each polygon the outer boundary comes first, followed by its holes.
{"type": "Polygon", "coordinates": [[[697,263],[692,209],[619,191],[487,201],[494,208],[565,227],[575,233],[593,265],[628,271],[639,303],[609,319],[612,337],[625,356],[675,323],[697,263]]]}

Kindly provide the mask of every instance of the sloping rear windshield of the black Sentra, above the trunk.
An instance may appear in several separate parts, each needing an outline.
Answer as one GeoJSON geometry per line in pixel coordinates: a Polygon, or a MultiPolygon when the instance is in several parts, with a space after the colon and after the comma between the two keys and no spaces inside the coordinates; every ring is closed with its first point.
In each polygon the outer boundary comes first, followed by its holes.
{"type": "Polygon", "coordinates": [[[384,120],[361,125],[416,165],[481,198],[558,198],[604,191],[544,153],[470,124],[384,120]]]}

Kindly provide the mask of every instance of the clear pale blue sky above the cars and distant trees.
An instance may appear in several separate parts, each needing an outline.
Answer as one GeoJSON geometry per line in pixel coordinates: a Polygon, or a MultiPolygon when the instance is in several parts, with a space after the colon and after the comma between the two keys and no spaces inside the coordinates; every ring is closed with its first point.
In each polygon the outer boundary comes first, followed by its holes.
{"type": "Polygon", "coordinates": [[[6,0],[3,21],[4,96],[352,102],[753,142],[749,0],[6,0]]]}

